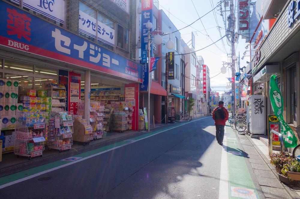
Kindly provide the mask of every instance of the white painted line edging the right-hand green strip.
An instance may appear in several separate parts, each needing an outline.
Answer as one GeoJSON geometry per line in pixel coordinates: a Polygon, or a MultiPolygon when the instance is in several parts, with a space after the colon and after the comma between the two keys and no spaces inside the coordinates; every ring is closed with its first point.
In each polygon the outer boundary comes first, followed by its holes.
{"type": "MultiPolygon", "coordinates": [[[[225,132],[226,132],[226,126],[225,126],[225,132]]],[[[222,149],[222,155],[221,155],[219,199],[229,198],[227,146],[226,145],[227,145],[227,137],[224,136],[223,149],[222,149]]]]}

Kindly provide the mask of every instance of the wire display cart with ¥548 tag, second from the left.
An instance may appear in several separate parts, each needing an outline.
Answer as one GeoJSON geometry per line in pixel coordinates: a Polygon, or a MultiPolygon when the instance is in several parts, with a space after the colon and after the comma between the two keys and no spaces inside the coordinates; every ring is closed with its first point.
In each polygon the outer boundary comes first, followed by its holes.
{"type": "Polygon", "coordinates": [[[50,112],[48,123],[48,142],[51,148],[59,150],[70,150],[73,145],[72,134],[74,116],[73,112],[50,112]]]}

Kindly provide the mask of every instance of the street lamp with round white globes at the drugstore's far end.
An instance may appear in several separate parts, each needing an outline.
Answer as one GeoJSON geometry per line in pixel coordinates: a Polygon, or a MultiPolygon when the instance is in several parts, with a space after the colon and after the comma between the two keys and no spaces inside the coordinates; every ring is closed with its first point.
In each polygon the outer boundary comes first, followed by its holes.
{"type": "MultiPolygon", "coordinates": [[[[163,38],[161,37],[161,35],[163,35],[164,33],[162,31],[156,31],[156,29],[158,29],[158,27],[154,30],[154,31],[150,31],[150,29],[152,29],[153,25],[151,22],[147,22],[146,23],[146,28],[148,29],[148,49],[147,49],[147,55],[148,55],[148,117],[149,117],[149,123],[148,123],[148,132],[150,132],[150,89],[151,89],[151,78],[150,78],[150,59],[151,59],[151,55],[150,55],[150,47],[152,43],[155,43],[156,45],[160,45],[163,42],[163,38]]],[[[174,42],[171,41],[171,38],[169,41],[167,41],[166,43],[167,48],[173,49],[174,48],[174,42]]],[[[167,118],[166,118],[167,119],[167,118]]],[[[153,121],[154,124],[155,121],[153,121]]]]}

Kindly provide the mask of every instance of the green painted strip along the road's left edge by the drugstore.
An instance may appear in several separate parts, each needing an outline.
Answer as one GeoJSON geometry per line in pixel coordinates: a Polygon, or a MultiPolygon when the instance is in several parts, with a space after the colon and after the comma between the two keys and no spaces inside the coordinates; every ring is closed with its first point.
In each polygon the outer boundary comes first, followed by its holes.
{"type": "MultiPolygon", "coordinates": [[[[205,117],[205,118],[207,118],[207,117],[205,117]]],[[[169,127],[166,127],[166,128],[160,129],[160,130],[156,130],[154,132],[146,133],[144,135],[140,135],[140,136],[131,138],[131,140],[133,140],[133,141],[130,141],[130,142],[126,141],[126,140],[125,141],[120,141],[120,142],[116,142],[114,144],[110,144],[110,145],[107,145],[107,146],[104,146],[104,147],[101,147],[101,148],[97,148],[97,149],[94,149],[94,150],[91,150],[91,151],[88,151],[88,152],[80,153],[80,154],[77,154],[76,157],[79,157],[81,159],[78,159],[78,160],[73,161],[73,162],[59,160],[59,161],[51,162],[51,163],[48,163],[48,164],[45,164],[45,165],[42,165],[42,166],[38,166],[38,167],[34,167],[34,168],[31,168],[31,169],[28,169],[28,170],[24,170],[24,171],[21,171],[21,172],[18,172],[18,173],[14,173],[14,174],[11,174],[11,175],[8,175],[8,176],[1,177],[0,178],[0,189],[6,187],[5,185],[7,183],[8,184],[9,183],[15,184],[15,183],[18,183],[18,182],[22,182],[26,179],[31,179],[32,176],[33,177],[35,177],[35,175],[38,176],[39,173],[40,173],[39,175],[42,175],[43,173],[48,173],[52,170],[56,170],[56,169],[62,168],[64,166],[68,166],[68,165],[74,164],[76,162],[83,161],[85,159],[100,155],[101,153],[108,152],[110,150],[114,150],[116,148],[131,144],[133,142],[137,142],[137,141],[139,141],[141,139],[145,139],[149,136],[153,136],[155,134],[162,133],[164,131],[171,130],[173,128],[176,128],[176,127],[179,127],[179,126],[182,126],[182,125],[185,125],[185,124],[189,124],[189,123],[194,122],[194,121],[202,120],[202,119],[205,119],[205,118],[195,119],[195,120],[192,120],[190,122],[184,122],[182,124],[176,124],[176,125],[169,126],[169,127]],[[24,180],[22,180],[22,179],[24,179],[24,180]],[[14,181],[17,181],[17,182],[13,183],[14,181]]],[[[9,186],[9,185],[7,185],[7,186],[9,186]]]]}

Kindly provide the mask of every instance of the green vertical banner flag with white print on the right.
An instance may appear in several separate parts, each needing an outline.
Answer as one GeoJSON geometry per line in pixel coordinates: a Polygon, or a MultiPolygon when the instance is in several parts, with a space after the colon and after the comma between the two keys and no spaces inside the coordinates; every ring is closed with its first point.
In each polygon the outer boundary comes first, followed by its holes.
{"type": "Polygon", "coordinates": [[[274,115],[278,118],[281,124],[281,134],[284,140],[284,146],[286,148],[292,148],[297,146],[297,138],[294,131],[286,124],[283,119],[283,97],[280,93],[276,82],[276,75],[272,75],[270,78],[270,100],[271,106],[274,111],[274,115]]]}

